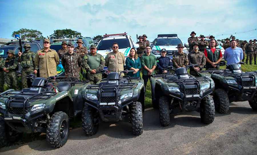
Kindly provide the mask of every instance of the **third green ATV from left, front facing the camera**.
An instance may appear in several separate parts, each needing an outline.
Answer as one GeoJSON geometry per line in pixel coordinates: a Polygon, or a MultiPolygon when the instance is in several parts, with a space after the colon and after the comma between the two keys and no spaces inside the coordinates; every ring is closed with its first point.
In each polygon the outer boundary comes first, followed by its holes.
{"type": "MultiPolygon", "coordinates": [[[[198,66],[188,65],[187,68],[198,66]]],[[[152,100],[158,104],[162,126],[168,126],[170,113],[178,111],[198,111],[202,123],[214,121],[215,107],[210,95],[214,82],[211,78],[188,75],[187,69],[181,67],[175,74],[153,75],[151,86],[152,100]]]]}

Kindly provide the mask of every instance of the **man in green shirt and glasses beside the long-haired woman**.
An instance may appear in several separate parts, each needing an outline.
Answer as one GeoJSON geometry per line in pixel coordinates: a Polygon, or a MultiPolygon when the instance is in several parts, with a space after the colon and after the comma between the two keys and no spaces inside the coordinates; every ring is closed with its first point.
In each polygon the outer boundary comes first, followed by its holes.
{"type": "Polygon", "coordinates": [[[145,48],[146,53],[141,57],[141,65],[143,68],[143,80],[144,80],[144,87],[150,79],[151,75],[155,74],[155,68],[157,66],[156,57],[151,53],[151,47],[146,46],[145,48]]]}

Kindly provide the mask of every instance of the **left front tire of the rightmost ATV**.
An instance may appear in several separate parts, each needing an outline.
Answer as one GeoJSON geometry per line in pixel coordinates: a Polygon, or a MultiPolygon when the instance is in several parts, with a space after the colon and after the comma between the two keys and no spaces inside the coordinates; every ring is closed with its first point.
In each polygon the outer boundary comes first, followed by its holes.
{"type": "Polygon", "coordinates": [[[229,98],[224,89],[216,89],[214,91],[214,104],[215,110],[219,113],[228,113],[229,110],[229,98]]]}

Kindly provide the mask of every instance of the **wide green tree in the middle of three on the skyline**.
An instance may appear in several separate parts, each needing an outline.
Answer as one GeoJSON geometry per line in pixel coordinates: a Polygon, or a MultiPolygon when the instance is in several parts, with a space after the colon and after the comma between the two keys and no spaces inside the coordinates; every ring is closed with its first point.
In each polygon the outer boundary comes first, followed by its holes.
{"type": "Polygon", "coordinates": [[[54,30],[54,33],[50,35],[50,38],[51,39],[64,39],[64,38],[75,38],[77,36],[81,36],[81,33],[66,28],[63,30],[54,30]]]}

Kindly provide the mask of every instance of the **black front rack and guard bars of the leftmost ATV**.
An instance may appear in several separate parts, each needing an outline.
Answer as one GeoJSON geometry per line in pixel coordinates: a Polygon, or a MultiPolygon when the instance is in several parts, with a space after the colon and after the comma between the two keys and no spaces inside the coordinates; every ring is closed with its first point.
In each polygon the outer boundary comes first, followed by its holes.
{"type": "Polygon", "coordinates": [[[41,92],[39,94],[35,93],[29,93],[29,92],[23,92],[22,90],[10,90],[8,92],[4,92],[0,94],[0,98],[7,98],[5,101],[5,110],[6,110],[6,116],[8,117],[8,110],[10,107],[10,104],[12,102],[15,103],[21,103],[22,104],[22,109],[23,109],[23,115],[22,118],[25,119],[25,107],[27,107],[27,102],[29,100],[46,100],[57,93],[55,92],[41,92]],[[19,93],[14,93],[14,92],[19,92],[19,93]],[[8,96],[8,95],[13,95],[13,96],[8,96]],[[24,97],[24,96],[29,96],[29,97],[24,97]]]}

